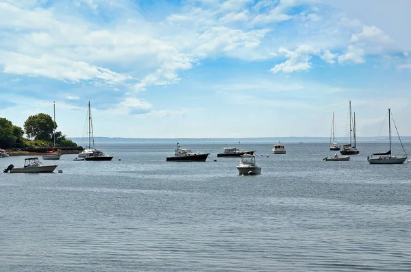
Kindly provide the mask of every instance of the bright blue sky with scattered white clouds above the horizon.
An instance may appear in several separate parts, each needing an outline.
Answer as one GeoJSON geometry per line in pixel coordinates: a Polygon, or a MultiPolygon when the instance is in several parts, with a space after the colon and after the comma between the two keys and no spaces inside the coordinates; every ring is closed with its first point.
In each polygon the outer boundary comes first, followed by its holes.
{"type": "Polygon", "coordinates": [[[0,0],[0,117],[86,136],[411,136],[408,0],[0,0]]]}

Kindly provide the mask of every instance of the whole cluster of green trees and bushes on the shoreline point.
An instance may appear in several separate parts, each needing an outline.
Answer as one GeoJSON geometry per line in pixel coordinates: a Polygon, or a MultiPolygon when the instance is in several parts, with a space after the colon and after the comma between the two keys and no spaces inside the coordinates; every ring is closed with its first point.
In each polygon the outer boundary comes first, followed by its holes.
{"type": "Polygon", "coordinates": [[[55,133],[56,147],[77,147],[77,145],[62,132],[55,132],[57,123],[49,114],[31,115],[24,123],[24,129],[13,125],[11,121],[0,117],[0,147],[51,147],[55,133]],[[27,135],[27,138],[24,137],[27,135]]]}

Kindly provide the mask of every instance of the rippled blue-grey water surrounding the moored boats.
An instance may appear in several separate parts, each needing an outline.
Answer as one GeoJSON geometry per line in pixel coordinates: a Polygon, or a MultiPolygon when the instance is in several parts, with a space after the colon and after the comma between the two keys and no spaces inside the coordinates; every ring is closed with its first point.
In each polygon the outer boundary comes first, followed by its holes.
{"type": "Polygon", "coordinates": [[[99,145],[111,162],[0,173],[0,271],[411,271],[411,164],[366,162],[386,145],[349,162],[323,161],[327,144],[236,146],[257,150],[262,175],[213,162],[220,144],[184,145],[207,162],[112,144],[99,145]]]}

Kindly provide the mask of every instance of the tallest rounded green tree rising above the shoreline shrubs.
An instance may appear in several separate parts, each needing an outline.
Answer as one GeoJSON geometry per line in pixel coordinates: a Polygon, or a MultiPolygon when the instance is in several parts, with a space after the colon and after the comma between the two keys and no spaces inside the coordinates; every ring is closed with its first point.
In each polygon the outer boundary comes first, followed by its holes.
{"type": "Polygon", "coordinates": [[[49,114],[39,113],[31,115],[24,123],[25,134],[34,140],[51,140],[53,138],[53,129],[57,123],[51,119],[49,114]]]}

